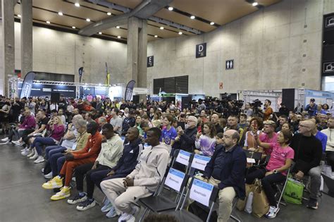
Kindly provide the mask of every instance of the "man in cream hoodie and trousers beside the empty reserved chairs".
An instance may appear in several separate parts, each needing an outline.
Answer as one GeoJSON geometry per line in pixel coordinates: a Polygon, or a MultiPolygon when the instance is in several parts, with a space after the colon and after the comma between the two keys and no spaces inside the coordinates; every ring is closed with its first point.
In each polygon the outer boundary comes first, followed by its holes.
{"type": "Polygon", "coordinates": [[[144,149],[135,170],[125,178],[101,182],[101,189],[113,204],[116,214],[122,213],[118,221],[135,221],[133,215],[139,210],[135,202],[142,197],[152,195],[163,179],[168,165],[170,147],[160,143],[160,137],[159,128],[149,129],[147,143],[151,147],[144,149]]]}

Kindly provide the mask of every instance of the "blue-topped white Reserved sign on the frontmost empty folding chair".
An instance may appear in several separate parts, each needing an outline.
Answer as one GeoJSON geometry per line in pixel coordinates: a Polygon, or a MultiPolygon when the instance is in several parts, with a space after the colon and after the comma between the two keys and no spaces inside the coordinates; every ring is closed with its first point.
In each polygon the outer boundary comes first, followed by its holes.
{"type": "Polygon", "coordinates": [[[209,206],[212,190],[214,190],[214,185],[194,178],[189,197],[205,206],[209,206]]]}

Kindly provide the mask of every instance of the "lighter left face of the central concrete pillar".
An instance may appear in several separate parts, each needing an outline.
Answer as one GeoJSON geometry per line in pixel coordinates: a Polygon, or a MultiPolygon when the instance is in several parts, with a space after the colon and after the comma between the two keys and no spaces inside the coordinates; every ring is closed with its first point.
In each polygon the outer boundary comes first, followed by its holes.
{"type": "Polygon", "coordinates": [[[127,76],[125,77],[125,84],[130,80],[135,80],[137,83],[139,23],[140,20],[136,17],[128,19],[127,76]]]}

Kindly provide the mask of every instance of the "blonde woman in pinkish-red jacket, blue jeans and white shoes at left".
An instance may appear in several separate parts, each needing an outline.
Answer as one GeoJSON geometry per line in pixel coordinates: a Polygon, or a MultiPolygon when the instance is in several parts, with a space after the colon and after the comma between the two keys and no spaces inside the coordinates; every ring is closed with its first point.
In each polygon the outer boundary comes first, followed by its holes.
{"type": "Polygon", "coordinates": [[[42,156],[43,146],[57,145],[61,140],[61,137],[63,137],[65,127],[60,116],[54,116],[49,122],[49,130],[51,130],[49,137],[36,137],[30,146],[30,149],[35,150],[35,154],[30,156],[29,159],[35,160],[35,164],[44,162],[44,157],[42,156]]]}

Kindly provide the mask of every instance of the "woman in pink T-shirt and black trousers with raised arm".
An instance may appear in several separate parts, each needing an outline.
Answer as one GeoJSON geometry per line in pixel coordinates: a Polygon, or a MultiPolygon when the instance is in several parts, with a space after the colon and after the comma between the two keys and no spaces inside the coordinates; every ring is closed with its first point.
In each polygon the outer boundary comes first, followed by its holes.
{"type": "Polygon", "coordinates": [[[285,180],[286,171],[292,164],[292,159],[295,156],[295,152],[289,147],[289,143],[292,140],[292,132],[289,130],[280,131],[276,143],[261,142],[259,137],[256,137],[256,140],[261,147],[265,149],[272,148],[273,152],[271,152],[266,168],[256,169],[246,175],[246,183],[252,184],[256,178],[261,179],[262,187],[270,204],[266,217],[275,218],[280,209],[277,206],[276,192],[273,190],[272,185],[285,180]]]}

